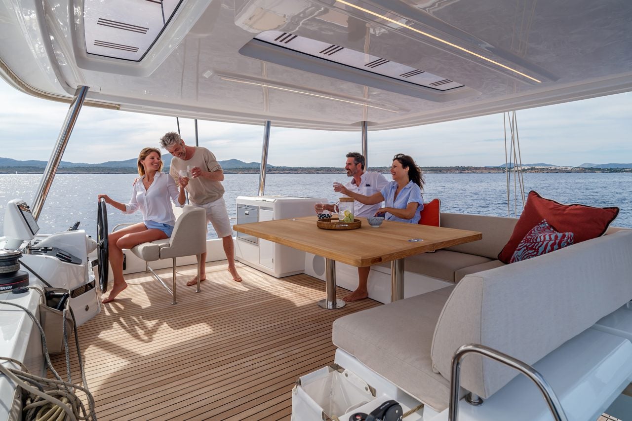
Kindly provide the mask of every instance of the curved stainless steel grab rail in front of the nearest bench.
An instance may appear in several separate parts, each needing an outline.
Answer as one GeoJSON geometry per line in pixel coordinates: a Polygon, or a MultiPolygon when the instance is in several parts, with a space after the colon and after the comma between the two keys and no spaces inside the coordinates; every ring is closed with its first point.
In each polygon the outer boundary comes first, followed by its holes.
{"type": "Polygon", "coordinates": [[[450,382],[450,406],[448,409],[448,420],[456,421],[458,417],[458,409],[459,409],[459,386],[461,382],[461,360],[468,353],[477,353],[483,355],[484,357],[491,358],[499,363],[512,367],[513,369],[518,370],[522,374],[526,375],[528,379],[533,381],[542,395],[544,399],[547,401],[549,405],[549,409],[553,417],[556,421],[568,421],[566,417],[566,413],[564,413],[564,409],[562,405],[557,399],[557,395],[550,387],[549,382],[545,381],[542,374],[538,373],[537,370],[533,369],[528,364],[521,362],[520,360],[516,360],[516,358],[509,357],[509,355],[504,354],[500,351],[496,351],[488,346],[478,345],[478,344],[469,344],[461,346],[452,357],[452,376],[450,382]]]}

